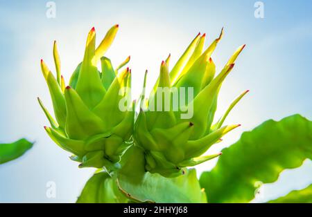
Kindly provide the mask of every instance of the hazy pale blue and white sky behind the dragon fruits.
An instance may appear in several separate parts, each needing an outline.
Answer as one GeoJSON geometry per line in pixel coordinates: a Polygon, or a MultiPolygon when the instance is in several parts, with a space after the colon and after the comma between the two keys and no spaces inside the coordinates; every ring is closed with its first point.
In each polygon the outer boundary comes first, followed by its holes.
{"type": "MultiPolygon", "coordinates": [[[[214,147],[220,151],[241,132],[261,122],[300,113],[312,119],[312,2],[262,1],[264,18],[254,17],[256,1],[54,1],[55,19],[46,17],[47,1],[0,0],[0,142],[26,136],[36,141],[31,151],[0,165],[0,202],[74,202],[94,169],[78,169],[55,145],[43,126],[48,124],[37,104],[40,96],[52,111],[40,59],[53,68],[53,40],[58,41],[62,72],[68,82],[83,58],[87,32],[96,28],[99,42],[114,24],[120,28],[107,52],[116,66],[131,55],[132,86],[141,91],[148,68],[148,86],[168,53],[175,62],[198,32],[207,44],[224,26],[225,35],[213,55],[217,69],[234,50],[247,44],[223,84],[217,115],[236,95],[250,93],[229,115],[240,123],[214,147]],[[46,183],[56,184],[56,198],[46,197],[46,183]]],[[[198,167],[209,170],[216,161],[198,167]]],[[[312,162],[284,171],[273,184],[263,185],[254,202],[263,202],[302,189],[312,182],[312,162]]]]}

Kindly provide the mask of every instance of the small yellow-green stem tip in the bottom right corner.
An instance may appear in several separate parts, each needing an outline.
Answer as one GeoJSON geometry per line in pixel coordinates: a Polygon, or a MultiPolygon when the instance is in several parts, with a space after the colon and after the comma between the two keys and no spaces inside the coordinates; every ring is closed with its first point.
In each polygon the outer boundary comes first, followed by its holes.
{"type": "Polygon", "coordinates": [[[312,185],[305,189],[291,191],[286,196],[270,200],[270,203],[312,203],[312,185]]]}

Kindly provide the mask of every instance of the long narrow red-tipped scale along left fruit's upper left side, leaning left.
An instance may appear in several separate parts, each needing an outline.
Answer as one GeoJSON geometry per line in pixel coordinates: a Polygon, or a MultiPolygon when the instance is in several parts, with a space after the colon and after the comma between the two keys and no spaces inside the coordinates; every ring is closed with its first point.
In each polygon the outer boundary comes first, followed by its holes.
{"type": "Polygon", "coordinates": [[[46,79],[46,84],[48,84],[49,87],[56,120],[58,121],[60,127],[64,128],[66,120],[66,104],[64,95],[60,86],[58,85],[58,82],[43,60],[41,60],[41,69],[44,78],[46,79]]]}

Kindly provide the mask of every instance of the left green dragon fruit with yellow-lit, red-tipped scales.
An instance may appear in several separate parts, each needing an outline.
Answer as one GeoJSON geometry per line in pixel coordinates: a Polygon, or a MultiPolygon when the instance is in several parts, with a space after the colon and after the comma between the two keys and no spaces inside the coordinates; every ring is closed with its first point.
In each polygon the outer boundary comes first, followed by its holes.
{"type": "Polygon", "coordinates": [[[73,155],[79,167],[116,167],[123,152],[132,144],[135,111],[131,102],[131,70],[118,73],[130,57],[116,69],[103,57],[119,26],[113,26],[96,48],[96,32],[89,31],[83,62],[71,75],[65,87],[60,75],[60,57],[54,42],[53,57],[56,78],[41,60],[41,68],[49,86],[56,121],[42,107],[51,127],[44,127],[51,139],[73,155]],[[101,60],[101,72],[96,67],[101,60]],[[121,99],[127,99],[120,109],[121,99]]]}

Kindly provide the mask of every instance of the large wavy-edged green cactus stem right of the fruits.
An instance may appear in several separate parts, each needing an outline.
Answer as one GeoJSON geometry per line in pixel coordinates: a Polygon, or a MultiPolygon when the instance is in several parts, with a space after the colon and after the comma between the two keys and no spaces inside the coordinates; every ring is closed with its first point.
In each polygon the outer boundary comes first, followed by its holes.
{"type": "Polygon", "coordinates": [[[249,202],[257,183],[275,182],[284,169],[312,159],[312,122],[300,115],[268,120],[223,149],[216,167],[202,173],[208,202],[249,202]]]}

